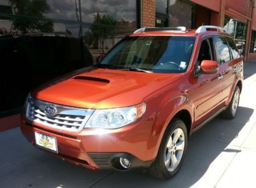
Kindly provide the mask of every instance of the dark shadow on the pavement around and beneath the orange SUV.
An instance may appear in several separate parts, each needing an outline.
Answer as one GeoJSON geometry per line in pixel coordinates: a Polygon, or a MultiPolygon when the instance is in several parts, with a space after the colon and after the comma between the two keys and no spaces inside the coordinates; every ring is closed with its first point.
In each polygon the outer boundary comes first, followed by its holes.
{"type": "Polygon", "coordinates": [[[180,172],[166,181],[139,172],[91,171],[76,167],[35,149],[18,129],[5,131],[0,142],[10,139],[11,133],[15,139],[11,146],[1,146],[0,187],[190,187],[202,178],[222,152],[241,152],[227,146],[249,121],[253,109],[239,107],[238,110],[235,119],[217,117],[192,135],[180,172]]]}

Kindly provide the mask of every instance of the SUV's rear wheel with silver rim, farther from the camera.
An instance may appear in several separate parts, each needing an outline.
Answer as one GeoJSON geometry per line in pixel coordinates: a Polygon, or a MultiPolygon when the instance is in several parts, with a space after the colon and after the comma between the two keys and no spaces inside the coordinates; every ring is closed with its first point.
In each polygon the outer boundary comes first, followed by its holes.
{"type": "Polygon", "coordinates": [[[228,104],[227,109],[221,113],[221,116],[224,117],[225,119],[233,119],[234,117],[236,117],[239,100],[240,100],[240,88],[236,86],[233,92],[232,99],[228,104]]]}

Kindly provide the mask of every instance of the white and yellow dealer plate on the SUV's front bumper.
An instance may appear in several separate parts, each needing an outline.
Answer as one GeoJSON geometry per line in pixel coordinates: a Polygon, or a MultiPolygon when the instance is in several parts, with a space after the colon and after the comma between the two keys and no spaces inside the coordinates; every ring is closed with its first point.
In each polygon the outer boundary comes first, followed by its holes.
{"type": "Polygon", "coordinates": [[[37,147],[58,153],[56,137],[35,131],[35,144],[37,147]]]}

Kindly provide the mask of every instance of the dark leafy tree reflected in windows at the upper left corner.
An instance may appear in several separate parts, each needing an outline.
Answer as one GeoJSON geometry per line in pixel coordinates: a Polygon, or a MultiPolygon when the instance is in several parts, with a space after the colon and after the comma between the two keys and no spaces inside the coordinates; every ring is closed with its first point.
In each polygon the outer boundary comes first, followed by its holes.
{"type": "MultiPolygon", "coordinates": [[[[9,0],[14,14],[23,16],[32,16],[36,18],[44,18],[45,11],[50,10],[47,0],[9,0]]],[[[12,18],[13,28],[19,30],[23,34],[33,32],[53,32],[52,21],[40,21],[32,19],[12,18]]]]}

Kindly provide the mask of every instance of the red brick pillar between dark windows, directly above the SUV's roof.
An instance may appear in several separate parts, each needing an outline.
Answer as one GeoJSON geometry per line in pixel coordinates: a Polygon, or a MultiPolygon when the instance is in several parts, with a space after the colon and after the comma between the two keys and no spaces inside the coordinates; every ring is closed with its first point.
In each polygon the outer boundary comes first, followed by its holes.
{"type": "Polygon", "coordinates": [[[142,27],[155,27],[156,0],[142,0],[142,27]]]}

